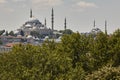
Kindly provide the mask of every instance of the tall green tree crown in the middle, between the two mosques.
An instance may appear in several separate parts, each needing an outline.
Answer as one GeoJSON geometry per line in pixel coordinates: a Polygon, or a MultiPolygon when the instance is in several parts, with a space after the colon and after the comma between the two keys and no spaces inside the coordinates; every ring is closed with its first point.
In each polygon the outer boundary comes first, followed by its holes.
{"type": "Polygon", "coordinates": [[[73,33],[62,37],[62,46],[72,58],[73,67],[76,67],[78,62],[82,61],[81,56],[88,52],[88,40],[84,35],[73,33]]]}

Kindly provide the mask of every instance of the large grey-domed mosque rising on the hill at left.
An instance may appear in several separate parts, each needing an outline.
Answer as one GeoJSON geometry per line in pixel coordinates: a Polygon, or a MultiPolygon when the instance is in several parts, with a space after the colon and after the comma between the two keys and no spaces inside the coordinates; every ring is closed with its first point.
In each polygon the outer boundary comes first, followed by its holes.
{"type": "Polygon", "coordinates": [[[38,19],[34,18],[32,15],[32,9],[30,10],[30,18],[26,21],[19,29],[18,32],[24,32],[24,36],[28,36],[31,32],[35,31],[40,35],[49,35],[52,34],[53,30],[47,28],[46,19],[45,24],[42,24],[38,19]]]}

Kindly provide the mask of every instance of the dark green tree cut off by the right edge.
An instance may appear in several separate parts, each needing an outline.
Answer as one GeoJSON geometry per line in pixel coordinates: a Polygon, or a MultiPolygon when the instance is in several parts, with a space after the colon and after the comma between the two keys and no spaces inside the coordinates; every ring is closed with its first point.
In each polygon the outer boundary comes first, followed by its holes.
{"type": "Polygon", "coordinates": [[[120,65],[120,29],[117,29],[109,41],[111,59],[114,62],[113,66],[120,65]]]}

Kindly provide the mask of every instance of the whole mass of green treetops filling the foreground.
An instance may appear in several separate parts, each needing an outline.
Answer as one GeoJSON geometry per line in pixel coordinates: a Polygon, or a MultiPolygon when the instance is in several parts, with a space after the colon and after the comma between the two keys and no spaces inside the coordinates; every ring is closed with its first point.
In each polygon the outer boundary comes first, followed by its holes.
{"type": "Polygon", "coordinates": [[[0,54],[0,80],[119,80],[120,30],[64,34],[60,43],[15,45],[0,54]]]}

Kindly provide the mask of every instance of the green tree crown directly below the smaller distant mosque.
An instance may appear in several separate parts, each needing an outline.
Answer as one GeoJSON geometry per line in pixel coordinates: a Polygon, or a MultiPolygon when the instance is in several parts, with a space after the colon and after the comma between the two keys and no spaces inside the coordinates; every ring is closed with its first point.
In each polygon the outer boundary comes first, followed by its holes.
{"type": "Polygon", "coordinates": [[[90,52],[95,59],[94,67],[96,69],[105,65],[110,59],[108,41],[108,37],[104,33],[98,33],[92,44],[90,44],[92,46],[90,52]]]}

